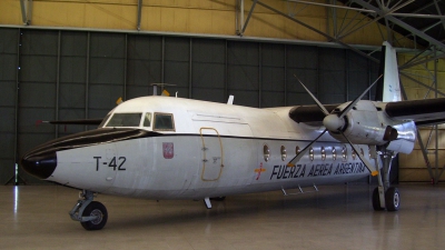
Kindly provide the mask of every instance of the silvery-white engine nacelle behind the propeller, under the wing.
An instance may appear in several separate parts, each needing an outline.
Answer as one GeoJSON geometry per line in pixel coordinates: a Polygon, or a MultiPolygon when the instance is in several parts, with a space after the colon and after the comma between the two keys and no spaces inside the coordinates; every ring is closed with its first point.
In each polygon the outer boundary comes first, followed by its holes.
{"type": "MultiPolygon", "coordinates": [[[[343,110],[347,104],[339,106],[334,112],[343,110]]],[[[387,144],[388,150],[403,153],[413,151],[416,140],[414,122],[400,123],[399,121],[394,121],[372,101],[362,100],[357,102],[344,119],[345,126],[342,131],[352,143],[387,144]]],[[[335,139],[347,142],[339,132],[329,131],[329,133],[335,139]]]]}

